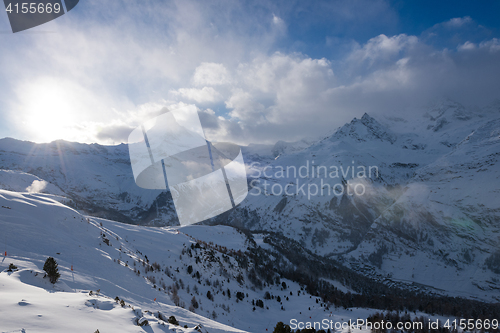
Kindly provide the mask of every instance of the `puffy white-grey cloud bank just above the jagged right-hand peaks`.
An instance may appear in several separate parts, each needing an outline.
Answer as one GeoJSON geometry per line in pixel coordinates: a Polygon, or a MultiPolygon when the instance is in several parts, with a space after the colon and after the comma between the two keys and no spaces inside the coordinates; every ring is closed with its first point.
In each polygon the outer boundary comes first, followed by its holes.
{"type": "MultiPolygon", "coordinates": [[[[461,52],[435,50],[415,36],[396,35],[372,38],[336,64],[301,54],[259,55],[226,69],[232,80],[218,93],[229,117],[211,109],[200,117],[211,140],[272,143],[331,132],[363,112],[402,111],[443,95],[477,101],[495,95],[500,63],[491,50],[497,45],[495,39],[483,42],[461,58],[461,52]],[[351,71],[340,79],[334,67],[351,71]],[[485,69],[490,73],[485,75],[485,69]]],[[[204,88],[176,93],[194,100],[204,88]]]]}

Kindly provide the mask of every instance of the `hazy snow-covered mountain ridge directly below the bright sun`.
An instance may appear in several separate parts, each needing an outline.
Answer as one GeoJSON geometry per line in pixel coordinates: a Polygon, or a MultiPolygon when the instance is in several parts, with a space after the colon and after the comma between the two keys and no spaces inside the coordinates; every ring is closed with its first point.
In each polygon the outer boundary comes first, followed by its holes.
{"type": "Polygon", "coordinates": [[[6,138],[0,140],[0,169],[36,176],[47,182],[42,192],[64,192],[75,208],[95,216],[129,223],[154,223],[161,216],[162,225],[176,224],[169,193],[135,184],[124,144],[35,144],[6,138]]]}

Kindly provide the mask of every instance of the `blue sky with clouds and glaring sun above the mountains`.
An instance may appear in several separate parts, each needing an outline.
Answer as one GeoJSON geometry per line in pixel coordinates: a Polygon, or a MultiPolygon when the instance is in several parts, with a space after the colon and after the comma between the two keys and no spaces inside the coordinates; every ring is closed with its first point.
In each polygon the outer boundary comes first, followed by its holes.
{"type": "Polygon", "coordinates": [[[439,98],[500,98],[500,1],[98,1],[9,33],[0,137],[113,144],[194,104],[240,144],[332,131],[439,98]]]}

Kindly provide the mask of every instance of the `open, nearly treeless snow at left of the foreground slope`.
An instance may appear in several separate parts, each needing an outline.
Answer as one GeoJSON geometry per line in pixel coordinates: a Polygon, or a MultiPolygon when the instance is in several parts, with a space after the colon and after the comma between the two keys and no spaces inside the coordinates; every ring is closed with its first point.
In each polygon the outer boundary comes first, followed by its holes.
{"type": "Polygon", "coordinates": [[[81,332],[119,327],[120,331],[136,332],[133,320],[142,316],[154,322],[151,325],[154,331],[173,328],[173,325],[159,325],[163,321],[140,312],[138,309],[142,307],[144,311],[160,311],[166,318],[175,315],[182,325],[191,328],[202,324],[210,332],[239,332],[174,306],[169,295],[153,289],[131,267],[117,263],[119,258],[126,258],[124,261],[130,263],[138,261],[137,248],[158,253],[154,248],[157,246],[162,249],[158,257],[167,257],[169,253],[177,256],[183,242],[188,241],[186,237],[170,230],[156,231],[87,219],[50,196],[40,194],[0,191],[0,201],[0,223],[5,238],[2,248],[7,252],[0,267],[4,270],[13,263],[20,269],[0,275],[2,330],[19,329],[22,323],[27,331],[37,332],[52,331],[54,327],[59,331],[64,331],[64,327],[78,328],[81,332]],[[108,229],[108,224],[124,238],[108,229]],[[107,236],[103,237],[104,232],[107,236]],[[105,237],[111,246],[105,245],[105,237]],[[48,256],[59,263],[61,278],[55,286],[43,279],[41,271],[48,256]],[[90,290],[95,293],[98,289],[100,297],[88,295],[90,290]],[[132,305],[135,312],[128,306],[122,308],[114,301],[115,297],[132,305]]]}

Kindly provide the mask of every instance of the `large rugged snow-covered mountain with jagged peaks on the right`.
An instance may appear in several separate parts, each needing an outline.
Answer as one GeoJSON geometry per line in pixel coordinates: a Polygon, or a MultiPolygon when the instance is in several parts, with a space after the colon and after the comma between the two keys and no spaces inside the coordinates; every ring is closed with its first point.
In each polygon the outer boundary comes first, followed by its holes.
{"type": "Polygon", "coordinates": [[[499,128],[497,104],[365,113],[261,167],[250,198],[218,222],[280,232],[389,284],[499,300],[499,128]]]}

